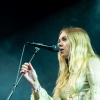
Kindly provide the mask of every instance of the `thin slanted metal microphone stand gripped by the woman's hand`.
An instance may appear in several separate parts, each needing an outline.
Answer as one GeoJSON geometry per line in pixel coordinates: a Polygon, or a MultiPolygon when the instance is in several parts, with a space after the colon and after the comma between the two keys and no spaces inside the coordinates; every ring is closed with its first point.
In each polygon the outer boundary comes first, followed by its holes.
{"type": "MultiPolygon", "coordinates": [[[[32,59],[34,58],[35,54],[40,50],[40,48],[38,48],[38,47],[35,47],[35,49],[36,49],[36,51],[33,53],[33,55],[32,55],[32,57],[31,57],[29,63],[31,63],[31,61],[32,61],[32,59]]],[[[23,73],[23,74],[24,74],[24,73],[23,73]]],[[[7,98],[7,100],[10,100],[10,98],[11,98],[12,94],[14,93],[15,88],[18,86],[18,83],[19,83],[19,81],[21,80],[23,74],[21,74],[21,76],[20,76],[20,78],[18,79],[18,81],[15,82],[15,84],[14,84],[14,86],[13,86],[13,88],[12,88],[12,90],[11,90],[11,92],[10,92],[8,98],[7,98]]]]}

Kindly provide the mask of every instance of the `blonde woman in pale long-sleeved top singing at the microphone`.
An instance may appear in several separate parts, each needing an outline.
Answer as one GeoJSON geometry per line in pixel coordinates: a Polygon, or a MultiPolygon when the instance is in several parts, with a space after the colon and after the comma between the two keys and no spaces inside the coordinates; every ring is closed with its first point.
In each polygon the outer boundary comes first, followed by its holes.
{"type": "Polygon", "coordinates": [[[59,72],[53,96],[41,86],[31,63],[22,65],[20,73],[32,87],[30,100],[100,100],[100,58],[88,33],[79,27],[64,28],[57,45],[59,72]]]}

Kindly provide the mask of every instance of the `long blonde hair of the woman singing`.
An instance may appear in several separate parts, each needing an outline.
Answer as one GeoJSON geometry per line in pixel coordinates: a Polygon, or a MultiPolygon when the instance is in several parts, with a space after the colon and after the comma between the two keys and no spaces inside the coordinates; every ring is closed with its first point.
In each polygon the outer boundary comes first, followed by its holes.
{"type": "Polygon", "coordinates": [[[87,59],[91,56],[97,56],[91,46],[89,36],[85,30],[78,27],[64,28],[60,31],[66,32],[67,37],[71,43],[71,51],[69,54],[68,64],[65,59],[58,53],[59,73],[54,88],[54,95],[59,94],[60,89],[68,82],[69,75],[74,74],[72,79],[72,86],[75,87],[75,80],[86,67],[87,59]]]}

